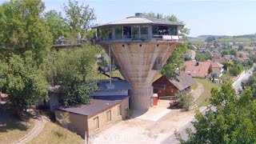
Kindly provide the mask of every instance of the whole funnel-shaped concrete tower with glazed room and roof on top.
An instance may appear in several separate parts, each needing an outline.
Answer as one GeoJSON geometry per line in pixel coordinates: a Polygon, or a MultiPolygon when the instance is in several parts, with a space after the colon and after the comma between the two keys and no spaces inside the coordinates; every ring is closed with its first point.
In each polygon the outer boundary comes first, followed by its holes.
{"type": "Polygon", "coordinates": [[[94,26],[97,29],[96,43],[110,52],[110,57],[118,63],[120,73],[132,88],[132,109],[150,108],[152,82],[178,43],[182,42],[182,37],[178,36],[182,26],[182,23],[148,18],[140,13],[94,26]]]}

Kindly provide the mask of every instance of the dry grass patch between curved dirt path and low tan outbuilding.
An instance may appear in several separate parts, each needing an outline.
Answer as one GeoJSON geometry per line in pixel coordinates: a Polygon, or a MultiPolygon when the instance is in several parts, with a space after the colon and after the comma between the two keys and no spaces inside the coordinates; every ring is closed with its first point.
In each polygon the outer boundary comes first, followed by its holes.
{"type": "Polygon", "coordinates": [[[53,122],[46,122],[42,132],[28,143],[84,143],[78,135],[58,126],[53,122]]]}

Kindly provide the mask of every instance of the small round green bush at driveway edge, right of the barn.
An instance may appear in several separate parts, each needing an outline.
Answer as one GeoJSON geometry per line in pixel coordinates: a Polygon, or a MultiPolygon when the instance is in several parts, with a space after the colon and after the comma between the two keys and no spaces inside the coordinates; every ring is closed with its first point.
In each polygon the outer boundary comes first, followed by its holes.
{"type": "Polygon", "coordinates": [[[192,106],[192,95],[189,91],[182,91],[180,93],[175,94],[176,98],[178,98],[179,101],[179,107],[183,110],[190,110],[190,106],[192,106]]]}

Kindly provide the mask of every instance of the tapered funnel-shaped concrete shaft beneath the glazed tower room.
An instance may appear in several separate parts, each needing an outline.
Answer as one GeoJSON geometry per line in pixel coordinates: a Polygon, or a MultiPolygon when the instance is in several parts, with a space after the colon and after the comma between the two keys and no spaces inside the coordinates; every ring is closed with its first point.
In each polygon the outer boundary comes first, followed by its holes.
{"type": "Polygon", "coordinates": [[[158,74],[155,66],[163,66],[178,42],[130,42],[104,45],[111,48],[120,72],[132,87],[130,104],[133,109],[148,110],[152,97],[152,82],[158,74]]]}

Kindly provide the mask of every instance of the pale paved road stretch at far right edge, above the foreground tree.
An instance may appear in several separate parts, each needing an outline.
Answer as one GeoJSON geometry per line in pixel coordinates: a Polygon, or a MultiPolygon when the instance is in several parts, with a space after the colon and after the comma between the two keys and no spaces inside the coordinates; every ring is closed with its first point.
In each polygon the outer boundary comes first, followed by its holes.
{"type": "Polygon", "coordinates": [[[234,81],[232,86],[237,93],[239,90],[242,90],[242,86],[241,86],[242,81],[248,79],[252,75],[253,70],[254,70],[254,67],[250,68],[250,70],[248,70],[247,72],[243,72],[242,74],[240,74],[239,78],[236,81],[234,81]]]}

